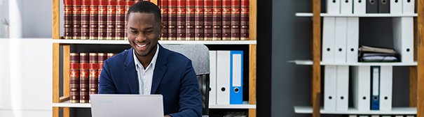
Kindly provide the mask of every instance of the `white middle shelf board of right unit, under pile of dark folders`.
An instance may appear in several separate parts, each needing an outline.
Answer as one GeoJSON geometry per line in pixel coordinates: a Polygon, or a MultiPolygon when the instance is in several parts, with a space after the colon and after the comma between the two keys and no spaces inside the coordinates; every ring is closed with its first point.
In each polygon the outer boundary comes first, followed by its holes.
{"type": "MultiPolygon", "coordinates": [[[[313,65],[312,60],[294,60],[288,61],[289,63],[295,63],[296,65],[313,65]]],[[[392,62],[392,63],[333,63],[333,62],[320,62],[320,65],[351,65],[351,66],[361,66],[361,65],[390,65],[390,66],[416,66],[418,63],[414,61],[413,63],[402,63],[402,62],[392,62]]]]}

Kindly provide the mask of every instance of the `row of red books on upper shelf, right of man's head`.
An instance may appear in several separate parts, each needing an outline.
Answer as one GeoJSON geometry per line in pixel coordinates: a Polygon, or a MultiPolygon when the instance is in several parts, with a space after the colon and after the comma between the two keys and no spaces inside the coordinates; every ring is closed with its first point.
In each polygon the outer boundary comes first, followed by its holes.
{"type": "Polygon", "coordinates": [[[249,40],[249,0],[158,0],[161,40],[249,40]]]}

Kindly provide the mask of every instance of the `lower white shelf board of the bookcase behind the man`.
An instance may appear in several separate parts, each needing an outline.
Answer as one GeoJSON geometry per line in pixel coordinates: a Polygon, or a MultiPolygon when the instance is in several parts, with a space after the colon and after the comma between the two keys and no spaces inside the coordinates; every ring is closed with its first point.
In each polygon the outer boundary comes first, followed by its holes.
{"type": "MultiPolygon", "coordinates": [[[[90,103],[71,103],[68,101],[61,103],[53,103],[53,107],[70,107],[70,108],[90,108],[90,103]]],[[[248,104],[248,102],[243,102],[243,104],[214,104],[209,105],[210,109],[256,109],[256,104],[248,104]]]]}

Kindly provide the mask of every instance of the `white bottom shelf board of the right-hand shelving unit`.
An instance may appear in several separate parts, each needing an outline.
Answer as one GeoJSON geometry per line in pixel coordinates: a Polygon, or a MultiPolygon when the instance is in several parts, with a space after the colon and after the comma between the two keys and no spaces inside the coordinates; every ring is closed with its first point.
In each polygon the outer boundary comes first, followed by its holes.
{"type": "MultiPolygon", "coordinates": [[[[307,106],[294,106],[294,113],[296,114],[312,114],[312,107],[307,106]]],[[[378,115],[414,115],[416,114],[416,107],[392,107],[392,111],[358,111],[354,108],[349,108],[348,111],[325,111],[320,109],[321,114],[378,114],[378,115]]]]}

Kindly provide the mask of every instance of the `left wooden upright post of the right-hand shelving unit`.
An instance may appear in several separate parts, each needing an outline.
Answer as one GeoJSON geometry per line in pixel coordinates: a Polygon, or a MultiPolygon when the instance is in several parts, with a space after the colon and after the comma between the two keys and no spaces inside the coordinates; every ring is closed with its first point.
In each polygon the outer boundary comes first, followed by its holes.
{"type": "Polygon", "coordinates": [[[312,0],[313,10],[313,66],[312,66],[312,105],[313,105],[313,117],[320,116],[320,94],[321,94],[321,1],[312,0]]]}

